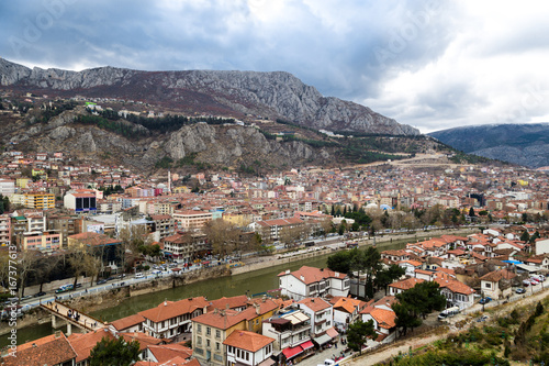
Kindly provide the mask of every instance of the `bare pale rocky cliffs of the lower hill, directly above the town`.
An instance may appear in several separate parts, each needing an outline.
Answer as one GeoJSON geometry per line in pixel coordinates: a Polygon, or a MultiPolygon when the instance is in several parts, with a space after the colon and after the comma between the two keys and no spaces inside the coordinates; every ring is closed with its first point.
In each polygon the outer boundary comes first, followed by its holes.
{"type": "Polygon", "coordinates": [[[191,157],[212,167],[253,167],[277,169],[304,164],[329,165],[328,148],[313,148],[301,142],[267,140],[255,127],[239,125],[184,125],[170,134],[128,140],[122,135],[75,122],[83,108],[66,111],[48,123],[20,121],[2,127],[1,143],[18,149],[34,152],[64,151],[68,156],[90,162],[109,160],[139,170],[152,170],[168,156],[173,162],[191,157]]]}

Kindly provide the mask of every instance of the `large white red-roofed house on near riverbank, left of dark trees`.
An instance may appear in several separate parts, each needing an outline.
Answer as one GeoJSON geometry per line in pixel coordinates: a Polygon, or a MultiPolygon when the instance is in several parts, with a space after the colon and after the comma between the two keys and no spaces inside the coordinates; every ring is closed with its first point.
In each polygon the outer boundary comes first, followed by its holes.
{"type": "Polygon", "coordinates": [[[350,281],[346,274],[324,268],[303,266],[298,270],[287,270],[278,275],[281,295],[295,301],[310,297],[349,295],[350,281]]]}

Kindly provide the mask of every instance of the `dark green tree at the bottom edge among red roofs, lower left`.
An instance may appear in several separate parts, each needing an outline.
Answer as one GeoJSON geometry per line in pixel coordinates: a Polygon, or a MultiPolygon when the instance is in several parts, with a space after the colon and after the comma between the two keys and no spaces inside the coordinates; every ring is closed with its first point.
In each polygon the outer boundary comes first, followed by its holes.
{"type": "Polygon", "coordinates": [[[139,359],[139,342],[127,343],[122,336],[103,337],[90,352],[90,366],[130,366],[139,359]]]}

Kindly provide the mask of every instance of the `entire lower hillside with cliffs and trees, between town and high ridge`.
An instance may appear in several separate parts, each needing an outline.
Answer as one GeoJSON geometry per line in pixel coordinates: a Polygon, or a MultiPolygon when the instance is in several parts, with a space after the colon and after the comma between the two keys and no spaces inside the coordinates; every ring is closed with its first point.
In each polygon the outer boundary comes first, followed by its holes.
{"type": "Polygon", "coordinates": [[[19,103],[21,111],[5,101],[0,106],[2,149],[61,151],[76,160],[144,173],[170,167],[186,174],[232,169],[260,175],[300,166],[396,160],[440,146],[423,135],[330,137],[283,121],[255,125],[181,115],[124,119],[113,109],[94,112],[75,101],[43,102],[38,109],[19,103]]]}

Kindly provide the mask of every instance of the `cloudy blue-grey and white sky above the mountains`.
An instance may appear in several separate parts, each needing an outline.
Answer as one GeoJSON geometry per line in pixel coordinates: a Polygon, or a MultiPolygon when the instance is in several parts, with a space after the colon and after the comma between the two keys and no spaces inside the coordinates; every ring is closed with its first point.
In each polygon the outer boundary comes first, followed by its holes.
{"type": "Polygon", "coordinates": [[[549,122],[549,2],[0,2],[0,56],[81,70],[289,71],[422,133],[549,122]]]}

